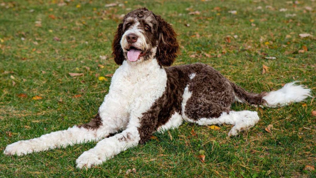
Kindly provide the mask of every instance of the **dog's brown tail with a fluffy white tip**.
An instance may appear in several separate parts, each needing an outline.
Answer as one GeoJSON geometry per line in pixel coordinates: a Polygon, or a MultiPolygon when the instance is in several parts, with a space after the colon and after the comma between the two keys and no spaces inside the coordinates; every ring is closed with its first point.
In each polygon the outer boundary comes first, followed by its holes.
{"type": "Polygon", "coordinates": [[[295,85],[296,82],[285,84],[281,89],[271,92],[262,92],[260,94],[247,92],[240,86],[230,82],[234,88],[235,99],[242,103],[250,105],[260,105],[268,107],[282,107],[292,102],[300,102],[311,97],[311,90],[301,85],[295,85]]]}

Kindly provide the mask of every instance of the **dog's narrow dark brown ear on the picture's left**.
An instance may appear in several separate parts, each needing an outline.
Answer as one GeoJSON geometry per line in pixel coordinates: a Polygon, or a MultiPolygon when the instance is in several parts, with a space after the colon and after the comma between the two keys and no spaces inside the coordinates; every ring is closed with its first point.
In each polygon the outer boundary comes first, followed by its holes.
{"type": "Polygon", "coordinates": [[[115,63],[118,65],[122,65],[124,61],[123,49],[121,47],[121,39],[123,36],[123,23],[120,23],[117,31],[115,32],[114,39],[112,42],[112,56],[114,58],[115,63]]]}

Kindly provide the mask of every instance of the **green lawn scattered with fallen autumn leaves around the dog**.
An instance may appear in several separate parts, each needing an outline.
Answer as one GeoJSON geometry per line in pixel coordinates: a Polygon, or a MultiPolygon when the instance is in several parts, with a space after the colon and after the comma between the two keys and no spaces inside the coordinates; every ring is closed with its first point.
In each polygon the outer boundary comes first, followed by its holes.
{"type": "MultiPolygon", "coordinates": [[[[86,123],[97,113],[111,82],[98,77],[118,67],[111,57],[113,33],[122,14],[143,6],[162,15],[179,34],[181,55],[174,65],[209,64],[252,92],[299,80],[316,94],[312,1],[119,0],[114,7],[104,6],[110,1],[60,2],[0,0],[2,150],[18,140],[86,123]],[[301,38],[302,33],[313,37],[301,38]],[[269,67],[265,74],[263,65],[269,67]]],[[[315,103],[309,98],[275,109],[235,103],[233,110],[258,111],[261,118],[240,136],[227,137],[231,125],[212,130],[185,123],[88,170],[76,169],[75,160],[94,142],[20,157],[0,154],[0,177],[316,177],[315,171],[304,170],[316,167],[315,103]],[[269,124],[272,133],[264,130],[269,124]],[[191,130],[196,137],[188,137],[191,130]],[[197,157],[200,150],[205,163],[197,157]],[[136,173],[125,175],[132,168],[136,173]]]]}

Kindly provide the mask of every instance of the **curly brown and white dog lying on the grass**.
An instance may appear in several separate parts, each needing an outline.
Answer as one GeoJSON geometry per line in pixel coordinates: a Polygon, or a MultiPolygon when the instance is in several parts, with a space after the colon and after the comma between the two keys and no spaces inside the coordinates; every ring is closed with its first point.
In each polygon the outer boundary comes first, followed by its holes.
{"type": "Polygon", "coordinates": [[[198,125],[232,124],[228,135],[237,135],[254,126],[259,117],[256,111],[231,111],[234,101],[277,107],[310,96],[309,89],[294,83],[278,91],[246,92],[201,63],[168,67],[179,51],[176,33],[146,8],[124,17],[112,48],[120,66],[95,118],[88,124],[12,143],[4,154],[20,156],[96,140],[99,143],[76,160],[77,168],[90,168],[145,143],[155,131],[177,128],[183,120],[198,125]]]}

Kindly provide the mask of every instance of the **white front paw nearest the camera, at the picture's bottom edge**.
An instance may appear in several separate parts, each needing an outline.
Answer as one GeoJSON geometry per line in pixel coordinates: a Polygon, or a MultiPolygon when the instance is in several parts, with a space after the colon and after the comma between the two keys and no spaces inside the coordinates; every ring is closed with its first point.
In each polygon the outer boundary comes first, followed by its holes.
{"type": "Polygon", "coordinates": [[[101,156],[96,154],[93,149],[85,151],[78,157],[76,160],[76,168],[91,168],[93,165],[102,164],[102,162],[105,161],[102,159],[101,156]]]}

